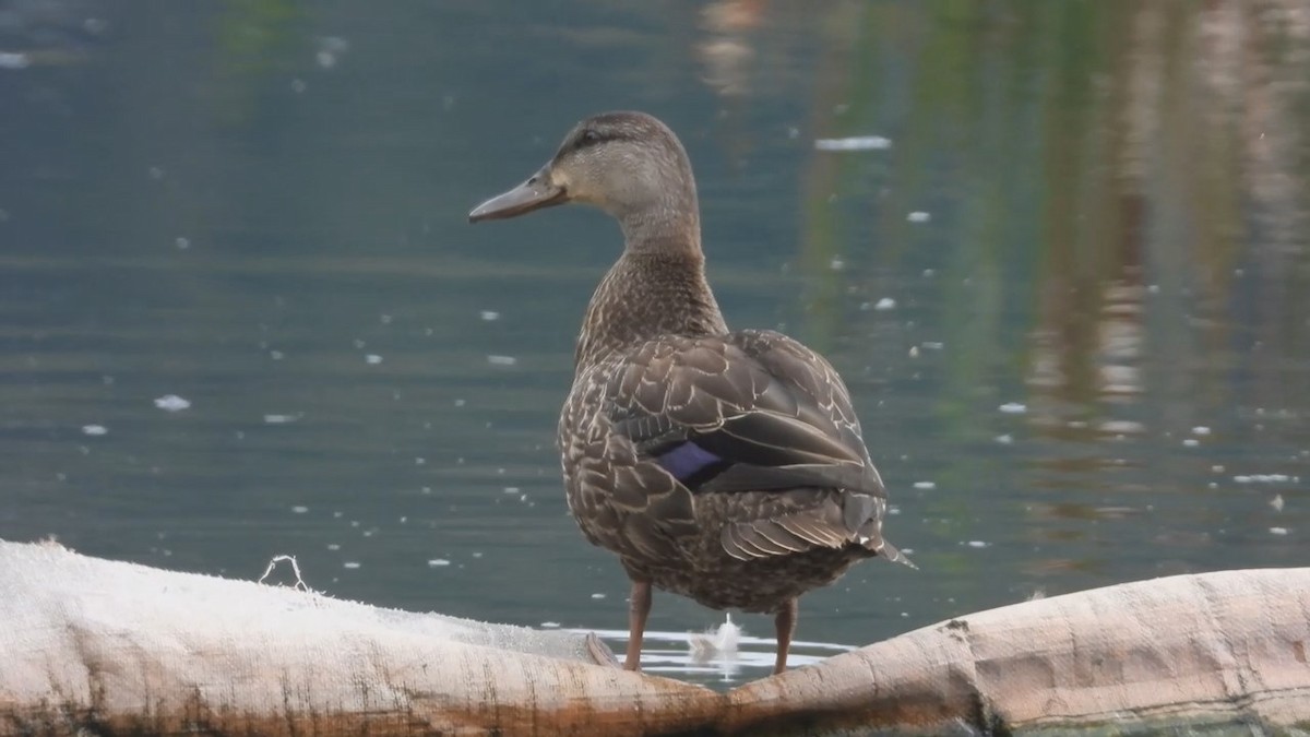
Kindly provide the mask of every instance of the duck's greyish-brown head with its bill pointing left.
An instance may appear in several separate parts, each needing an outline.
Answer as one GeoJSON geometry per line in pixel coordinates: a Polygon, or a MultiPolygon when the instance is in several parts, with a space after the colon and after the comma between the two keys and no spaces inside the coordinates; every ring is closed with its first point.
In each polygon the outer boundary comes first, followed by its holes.
{"type": "Polygon", "coordinates": [[[545,167],[474,207],[469,222],[515,218],[565,202],[609,212],[629,243],[656,227],[700,228],[686,151],[668,126],[646,113],[603,113],[579,122],[545,167]]]}

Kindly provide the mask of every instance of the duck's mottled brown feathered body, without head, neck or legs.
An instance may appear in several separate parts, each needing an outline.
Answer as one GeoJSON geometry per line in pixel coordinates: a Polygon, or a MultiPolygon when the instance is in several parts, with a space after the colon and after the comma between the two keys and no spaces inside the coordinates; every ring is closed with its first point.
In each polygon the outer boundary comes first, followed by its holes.
{"type": "Polygon", "coordinates": [[[579,366],[559,445],[587,538],[707,606],[774,611],[863,557],[908,563],[882,536],[887,493],[845,383],[781,333],[601,351],[579,366]]]}

